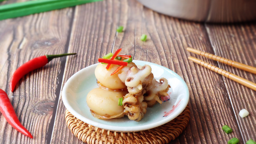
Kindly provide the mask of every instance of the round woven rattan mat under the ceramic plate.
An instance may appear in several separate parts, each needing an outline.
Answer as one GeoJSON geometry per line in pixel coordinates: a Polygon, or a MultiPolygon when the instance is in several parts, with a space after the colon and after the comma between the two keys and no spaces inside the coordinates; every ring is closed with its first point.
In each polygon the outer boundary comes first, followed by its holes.
{"type": "Polygon", "coordinates": [[[187,127],[190,110],[187,106],[178,117],[162,126],[131,133],[94,127],[77,119],[68,110],[65,112],[65,119],[71,132],[88,144],[166,144],[178,137],[187,127]]]}

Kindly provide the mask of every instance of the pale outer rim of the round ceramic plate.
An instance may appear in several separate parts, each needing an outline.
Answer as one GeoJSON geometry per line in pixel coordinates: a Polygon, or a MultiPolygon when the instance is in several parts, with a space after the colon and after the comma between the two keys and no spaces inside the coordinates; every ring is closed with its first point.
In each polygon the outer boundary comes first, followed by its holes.
{"type": "MultiPolygon", "coordinates": [[[[161,66],[161,65],[158,65],[158,64],[155,64],[155,63],[152,63],[152,62],[147,62],[147,61],[140,61],[140,60],[133,60],[133,62],[136,64],[136,63],[144,63],[144,64],[149,64],[149,65],[155,65],[155,66],[159,66],[163,69],[165,69],[166,71],[170,72],[172,75],[174,75],[176,78],[178,78],[181,83],[185,86],[185,89],[186,89],[186,93],[187,93],[187,99],[185,99],[185,101],[183,103],[184,106],[179,109],[176,114],[173,116],[175,119],[177,116],[179,116],[183,110],[186,108],[187,104],[188,104],[188,101],[189,101],[189,98],[190,98],[190,94],[189,94],[189,90],[188,90],[188,87],[187,87],[187,84],[186,82],[177,74],[175,73],[174,71],[172,71],[171,69],[168,69],[164,66],[161,66]]],[[[71,114],[73,114],[75,117],[77,117],[79,120],[85,122],[85,123],[88,123],[88,124],[91,124],[92,126],[95,126],[95,127],[99,127],[99,128],[102,128],[102,129],[105,129],[105,130],[111,130],[111,131],[117,131],[117,132],[135,132],[135,131],[143,131],[143,130],[149,130],[151,128],[155,128],[155,127],[158,127],[158,126],[161,126],[163,124],[166,124],[168,123],[169,121],[173,120],[173,119],[163,119],[161,121],[158,121],[157,123],[151,123],[151,124],[148,124],[148,125],[142,125],[142,126],[136,126],[136,127],[120,127],[120,126],[111,126],[111,125],[107,125],[107,124],[101,124],[101,123],[98,123],[96,121],[93,121],[93,120],[90,120],[88,118],[86,118],[85,116],[82,116],[81,114],[77,113],[76,110],[74,110],[68,100],[67,100],[67,95],[66,95],[66,91],[67,91],[67,87],[69,85],[69,83],[72,82],[72,78],[75,77],[76,75],[79,75],[80,73],[82,73],[83,71],[86,71],[86,69],[89,69],[93,66],[96,66],[98,65],[99,63],[96,63],[96,64],[92,64],[92,65],[89,65],[81,70],[79,70],[78,72],[74,73],[67,81],[66,83],[64,84],[63,88],[62,88],[62,102],[64,104],[64,106],[66,107],[66,109],[69,110],[69,112],[71,114]],[[84,121],[84,119],[86,121],[84,121]],[[107,127],[111,127],[111,129],[107,128],[107,127]]],[[[96,118],[95,118],[96,119],[96,118]]]]}

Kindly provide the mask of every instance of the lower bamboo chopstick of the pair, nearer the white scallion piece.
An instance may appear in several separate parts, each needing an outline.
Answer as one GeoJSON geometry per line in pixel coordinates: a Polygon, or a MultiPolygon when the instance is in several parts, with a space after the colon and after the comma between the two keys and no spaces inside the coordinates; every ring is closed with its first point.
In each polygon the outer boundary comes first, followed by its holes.
{"type": "Polygon", "coordinates": [[[204,66],[204,67],[210,69],[211,71],[217,72],[217,73],[225,76],[226,78],[234,80],[235,82],[238,82],[238,83],[256,91],[256,83],[253,83],[249,80],[241,78],[240,76],[234,75],[233,73],[227,72],[221,68],[218,68],[217,66],[211,65],[207,62],[201,61],[200,59],[194,58],[192,56],[189,56],[188,59],[197,64],[200,64],[201,66],[204,66]]]}

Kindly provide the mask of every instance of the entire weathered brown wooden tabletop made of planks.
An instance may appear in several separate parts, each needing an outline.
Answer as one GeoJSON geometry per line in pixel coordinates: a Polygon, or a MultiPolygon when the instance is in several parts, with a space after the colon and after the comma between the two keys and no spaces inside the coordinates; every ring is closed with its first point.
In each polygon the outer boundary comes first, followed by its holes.
{"type": "Polygon", "coordinates": [[[154,12],[136,0],[104,0],[1,20],[0,89],[9,95],[19,120],[34,138],[17,132],[0,113],[0,143],[82,143],[66,126],[63,85],[74,73],[118,48],[134,59],[171,69],[187,83],[190,121],[171,143],[227,143],[233,137],[241,144],[250,138],[256,141],[256,92],[187,57],[194,56],[252,82],[256,82],[256,75],[187,52],[187,47],[256,67],[256,23],[180,20],[154,12]],[[124,26],[124,32],[116,34],[119,25],[124,26]],[[148,36],[146,42],[140,40],[142,34],[148,36]],[[10,91],[10,78],[24,62],[67,52],[77,55],[53,59],[25,75],[16,90],[10,91]],[[250,115],[241,118],[241,109],[250,115]],[[221,129],[224,124],[233,132],[226,134],[221,129]]]}

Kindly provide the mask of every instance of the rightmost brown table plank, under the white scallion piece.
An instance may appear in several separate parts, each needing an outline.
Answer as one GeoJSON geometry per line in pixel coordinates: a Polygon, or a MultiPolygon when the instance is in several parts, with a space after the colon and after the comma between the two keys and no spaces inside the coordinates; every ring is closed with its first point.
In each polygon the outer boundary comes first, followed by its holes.
{"type": "MultiPolygon", "coordinates": [[[[207,24],[206,28],[214,48],[214,54],[256,67],[255,27],[255,23],[207,24]]],[[[226,71],[256,83],[256,77],[252,73],[219,62],[218,65],[226,71]]],[[[238,129],[236,131],[241,133],[239,140],[242,143],[246,143],[250,138],[256,140],[256,92],[230,79],[223,77],[223,80],[233,109],[232,117],[237,120],[238,129]],[[241,109],[247,109],[250,115],[241,118],[239,116],[241,109]]]]}

